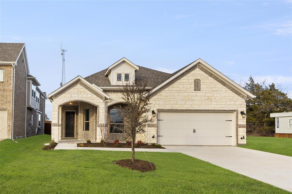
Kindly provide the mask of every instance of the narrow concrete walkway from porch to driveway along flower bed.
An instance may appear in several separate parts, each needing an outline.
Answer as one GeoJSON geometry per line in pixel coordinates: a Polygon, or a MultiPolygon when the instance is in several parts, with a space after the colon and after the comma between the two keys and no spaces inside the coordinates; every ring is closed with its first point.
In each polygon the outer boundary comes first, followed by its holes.
{"type": "MultiPolygon", "coordinates": [[[[78,149],[78,150],[84,150],[84,149],[90,149],[90,150],[103,150],[103,151],[132,151],[131,148],[109,148],[109,147],[77,147],[77,144],[58,144],[55,149],[78,149]]],[[[55,150],[54,149],[54,150],[55,150]]],[[[170,149],[142,149],[142,148],[135,148],[135,151],[148,151],[148,152],[175,152],[170,149]]]]}

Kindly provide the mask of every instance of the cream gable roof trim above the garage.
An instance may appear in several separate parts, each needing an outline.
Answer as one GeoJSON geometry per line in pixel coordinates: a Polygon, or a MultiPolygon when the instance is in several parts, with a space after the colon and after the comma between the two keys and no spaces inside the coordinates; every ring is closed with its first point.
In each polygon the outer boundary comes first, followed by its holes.
{"type": "Polygon", "coordinates": [[[185,71],[187,71],[188,69],[192,68],[194,65],[196,65],[198,63],[200,63],[200,65],[202,64],[205,68],[207,68],[209,71],[211,71],[214,75],[220,77],[223,81],[229,83],[232,87],[234,87],[234,89],[237,89],[239,92],[241,92],[243,94],[246,94],[246,97],[247,98],[254,98],[254,97],[256,97],[255,95],[251,94],[249,91],[247,91],[246,89],[244,89],[243,87],[241,87],[240,85],[238,85],[236,82],[234,82],[233,80],[229,79],[228,77],[226,77],[225,75],[223,75],[221,72],[219,72],[218,70],[216,70],[215,68],[213,68],[211,65],[207,64],[202,59],[197,59],[196,61],[188,64],[187,66],[185,66],[185,67],[177,70],[176,72],[168,75],[167,77],[165,77],[161,82],[159,82],[152,89],[152,93],[154,93],[155,91],[157,91],[159,88],[163,87],[168,82],[171,82],[176,77],[178,77],[179,75],[181,75],[182,73],[184,73],[185,71]]]}

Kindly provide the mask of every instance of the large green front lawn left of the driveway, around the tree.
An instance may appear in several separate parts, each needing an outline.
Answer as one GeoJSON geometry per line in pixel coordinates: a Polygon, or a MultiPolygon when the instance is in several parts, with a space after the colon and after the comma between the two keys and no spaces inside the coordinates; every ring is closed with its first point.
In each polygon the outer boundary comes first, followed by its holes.
{"type": "Polygon", "coordinates": [[[289,193],[180,153],[147,153],[157,170],[142,173],[113,164],[131,152],[42,150],[49,140],[0,142],[0,193],[289,193]]]}

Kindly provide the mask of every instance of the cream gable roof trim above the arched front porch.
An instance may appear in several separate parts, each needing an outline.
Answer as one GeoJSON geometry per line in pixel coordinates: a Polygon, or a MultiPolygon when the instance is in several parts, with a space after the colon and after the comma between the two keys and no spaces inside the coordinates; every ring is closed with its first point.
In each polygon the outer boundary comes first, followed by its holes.
{"type": "Polygon", "coordinates": [[[100,95],[104,96],[105,98],[110,98],[110,96],[108,96],[107,94],[105,94],[102,89],[100,89],[99,87],[96,87],[94,84],[89,83],[87,80],[85,80],[83,77],[81,77],[80,75],[78,75],[77,77],[75,77],[74,79],[72,79],[71,81],[69,81],[68,83],[66,83],[65,85],[61,86],[60,88],[56,89],[55,91],[53,91],[51,94],[48,95],[49,99],[52,99],[52,97],[56,94],[58,94],[60,91],[62,91],[63,89],[66,89],[68,86],[70,86],[71,84],[73,84],[74,82],[80,80],[81,82],[83,82],[84,84],[86,84],[88,87],[90,87],[91,89],[93,89],[94,91],[98,92],[100,95]]]}

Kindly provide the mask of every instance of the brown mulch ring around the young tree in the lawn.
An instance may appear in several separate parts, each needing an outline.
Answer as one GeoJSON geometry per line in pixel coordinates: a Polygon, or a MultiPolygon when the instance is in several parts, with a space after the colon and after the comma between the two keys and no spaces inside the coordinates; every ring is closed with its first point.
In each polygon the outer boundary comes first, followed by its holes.
{"type": "Polygon", "coordinates": [[[153,163],[150,164],[149,161],[144,161],[144,160],[135,159],[135,161],[132,162],[131,159],[125,159],[125,160],[118,160],[117,162],[114,161],[114,164],[117,164],[124,168],[132,169],[132,170],[139,170],[140,172],[156,170],[156,167],[153,163]]]}

